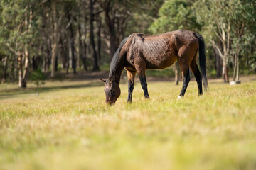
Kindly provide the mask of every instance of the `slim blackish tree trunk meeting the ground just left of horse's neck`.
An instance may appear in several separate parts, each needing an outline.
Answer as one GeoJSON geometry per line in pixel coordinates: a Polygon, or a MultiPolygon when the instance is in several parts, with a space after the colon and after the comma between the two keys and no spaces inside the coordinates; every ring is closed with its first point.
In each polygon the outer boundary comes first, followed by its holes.
{"type": "Polygon", "coordinates": [[[92,57],[94,59],[92,70],[97,71],[97,70],[100,70],[100,68],[97,62],[97,52],[95,50],[93,21],[94,21],[93,4],[92,4],[92,0],[90,0],[90,42],[92,47],[92,57]]]}

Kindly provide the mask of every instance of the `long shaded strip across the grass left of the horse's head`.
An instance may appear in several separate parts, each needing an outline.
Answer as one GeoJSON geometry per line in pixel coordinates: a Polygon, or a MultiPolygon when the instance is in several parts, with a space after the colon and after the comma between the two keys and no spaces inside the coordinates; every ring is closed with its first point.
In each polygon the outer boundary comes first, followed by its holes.
{"type": "Polygon", "coordinates": [[[80,89],[102,86],[101,82],[91,81],[83,84],[71,84],[71,85],[60,85],[60,86],[42,86],[42,87],[28,87],[26,89],[9,89],[9,90],[0,90],[0,100],[7,98],[16,98],[25,96],[36,96],[40,93],[45,93],[49,91],[58,91],[61,89],[80,89]]]}

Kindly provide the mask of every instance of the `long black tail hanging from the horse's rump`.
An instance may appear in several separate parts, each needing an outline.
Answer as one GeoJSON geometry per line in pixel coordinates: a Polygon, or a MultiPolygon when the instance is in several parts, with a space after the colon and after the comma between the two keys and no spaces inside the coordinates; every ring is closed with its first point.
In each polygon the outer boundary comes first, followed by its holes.
{"type": "Polygon", "coordinates": [[[202,35],[198,33],[194,33],[196,38],[199,40],[199,64],[200,64],[200,69],[201,69],[201,74],[202,74],[202,79],[203,79],[203,86],[205,91],[208,90],[208,81],[207,81],[207,75],[206,75],[206,50],[205,50],[205,43],[203,40],[202,35]]]}

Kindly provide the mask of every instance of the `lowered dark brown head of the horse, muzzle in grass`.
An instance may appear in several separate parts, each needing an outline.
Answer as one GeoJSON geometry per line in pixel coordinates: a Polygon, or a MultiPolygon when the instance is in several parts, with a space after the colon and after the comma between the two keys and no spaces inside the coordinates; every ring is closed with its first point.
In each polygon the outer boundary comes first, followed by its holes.
{"type": "Polygon", "coordinates": [[[106,94],[106,103],[114,105],[121,94],[119,85],[116,84],[110,77],[107,80],[102,80],[105,83],[105,94],[106,94]]]}

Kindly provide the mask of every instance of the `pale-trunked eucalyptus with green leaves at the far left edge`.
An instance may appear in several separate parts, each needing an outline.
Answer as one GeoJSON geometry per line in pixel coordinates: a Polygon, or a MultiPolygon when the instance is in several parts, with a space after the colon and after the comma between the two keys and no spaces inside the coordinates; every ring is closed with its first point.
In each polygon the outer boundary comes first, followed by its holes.
{"type": "Polygon", "coordinates": [[[18,61],[18,86],[26,87],[31,40],[36,36],[36,11],[34,0],[0,1],[1,3],[1,44],[13,53],[18,61]],[[24,63],[23,63],[24,62],[24,63]]]}

